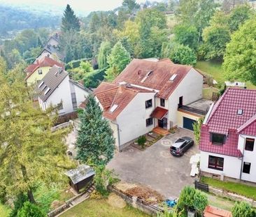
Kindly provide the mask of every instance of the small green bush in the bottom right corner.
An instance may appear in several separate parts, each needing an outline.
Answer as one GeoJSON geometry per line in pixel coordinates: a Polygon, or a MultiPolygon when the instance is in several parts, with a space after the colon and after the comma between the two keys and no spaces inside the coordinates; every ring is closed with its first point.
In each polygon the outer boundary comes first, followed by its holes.
{"type": "Polygon", "coordinates": [[[233,217],[253,217],[255,216],[255,211],[253,211],[250,204],[247,202],[236,202],[232,208],[233,217]]]}

